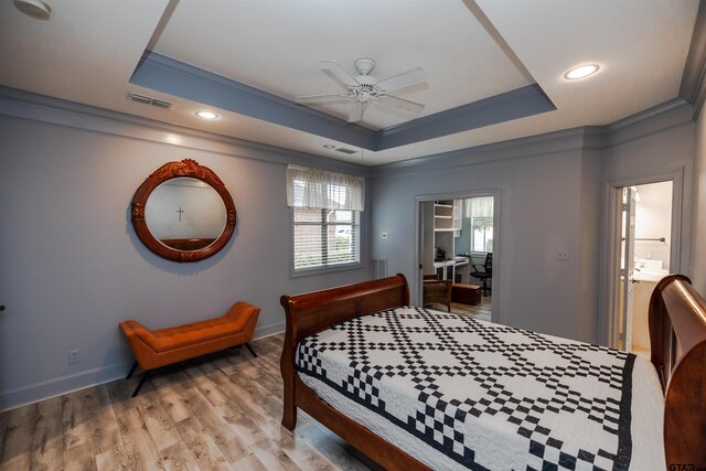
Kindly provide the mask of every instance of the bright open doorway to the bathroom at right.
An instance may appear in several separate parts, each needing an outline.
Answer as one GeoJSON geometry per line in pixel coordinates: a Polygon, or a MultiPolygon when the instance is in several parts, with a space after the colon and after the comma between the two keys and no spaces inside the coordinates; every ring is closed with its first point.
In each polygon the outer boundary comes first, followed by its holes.
{"type": "Polygon", "coordinates": [[[617,188],[620,246],[614,270],[616,345],[650,357],[648,307],[656,283],[672,269],[674,183],[662,181],[617,188]]]}

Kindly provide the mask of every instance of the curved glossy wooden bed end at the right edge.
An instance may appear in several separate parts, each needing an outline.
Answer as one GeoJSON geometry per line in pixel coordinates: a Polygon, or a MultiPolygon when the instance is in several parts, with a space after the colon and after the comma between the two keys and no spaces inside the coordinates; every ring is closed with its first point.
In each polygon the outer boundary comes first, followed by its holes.
{"type": "Polygon", "coordinates": [[[665,393],[667,469],[706,469],[706,300],[685,276],[671,275],[655,287],[650,343],[665,393]]]}

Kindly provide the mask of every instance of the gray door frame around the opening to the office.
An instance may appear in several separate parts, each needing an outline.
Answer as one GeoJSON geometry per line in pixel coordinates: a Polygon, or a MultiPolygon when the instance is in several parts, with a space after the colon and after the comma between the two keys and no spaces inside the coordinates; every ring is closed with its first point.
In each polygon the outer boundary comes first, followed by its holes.
{"type": "MultiPolygon", "coordinates": [[[[417,227],[415,234],[415,245],[417,249],[415,250],[415,274],[413,278],[414,286],[417,287],[417,306],[421,306],[421,297],[422,297],[422,278],[421,270],[419,266],[421,266],[424,260],[424,217],[421,212],[422,203],[429,201],[437,200],[466,200],[469,197],[479,197],[479,196],[493,196],[493,280],[500,278],[500,274],[502,272],[500,260],[501,257],[501,247],[500,247],[500,189],[494,190],[485,190],[485,191],[462,191],[462,192],[451,192],[451,193],[437,193],[437,194],[425,194],[415,196],[415,227],[417,227]]],[[[500,282],[493,282],[493,299],[491,300],[491,320],[492,322],[499,322],[500,318],[500,296],[499,291],[502,290],[502,286],[500,282]]],[[[413,300],[414,301],[414,300],[413,300]]]]}

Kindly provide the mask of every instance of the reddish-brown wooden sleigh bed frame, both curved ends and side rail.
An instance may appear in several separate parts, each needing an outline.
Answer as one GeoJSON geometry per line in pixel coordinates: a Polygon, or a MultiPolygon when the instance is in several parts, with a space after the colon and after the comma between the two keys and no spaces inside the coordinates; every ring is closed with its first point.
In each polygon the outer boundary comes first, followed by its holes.
{"type": "MultiPolygon", "coordinates": [[[[287,320],[280,358],[282,425],[293,430],[299,407],[387,469],[428,469],[320,400],[299,379],[295,360],[299,342],[315,332],[347,319],[408,306],[405,276],[282,296],[280,302],[287,320]]],[[[649,317],[652,363],[665,396],[666,469],[706,470],[706,300],[688,278],[671,275],[657,283],[649,317]]]]}

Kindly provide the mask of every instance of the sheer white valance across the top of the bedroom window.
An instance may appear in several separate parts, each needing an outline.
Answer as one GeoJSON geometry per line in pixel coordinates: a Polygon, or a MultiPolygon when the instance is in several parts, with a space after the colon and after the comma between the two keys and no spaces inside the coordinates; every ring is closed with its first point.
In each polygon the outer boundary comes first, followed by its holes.
{"type": "Polygon", "coordinates": [[[365,179],[287,165],[287,206],[364,211],[365,179]]]}

